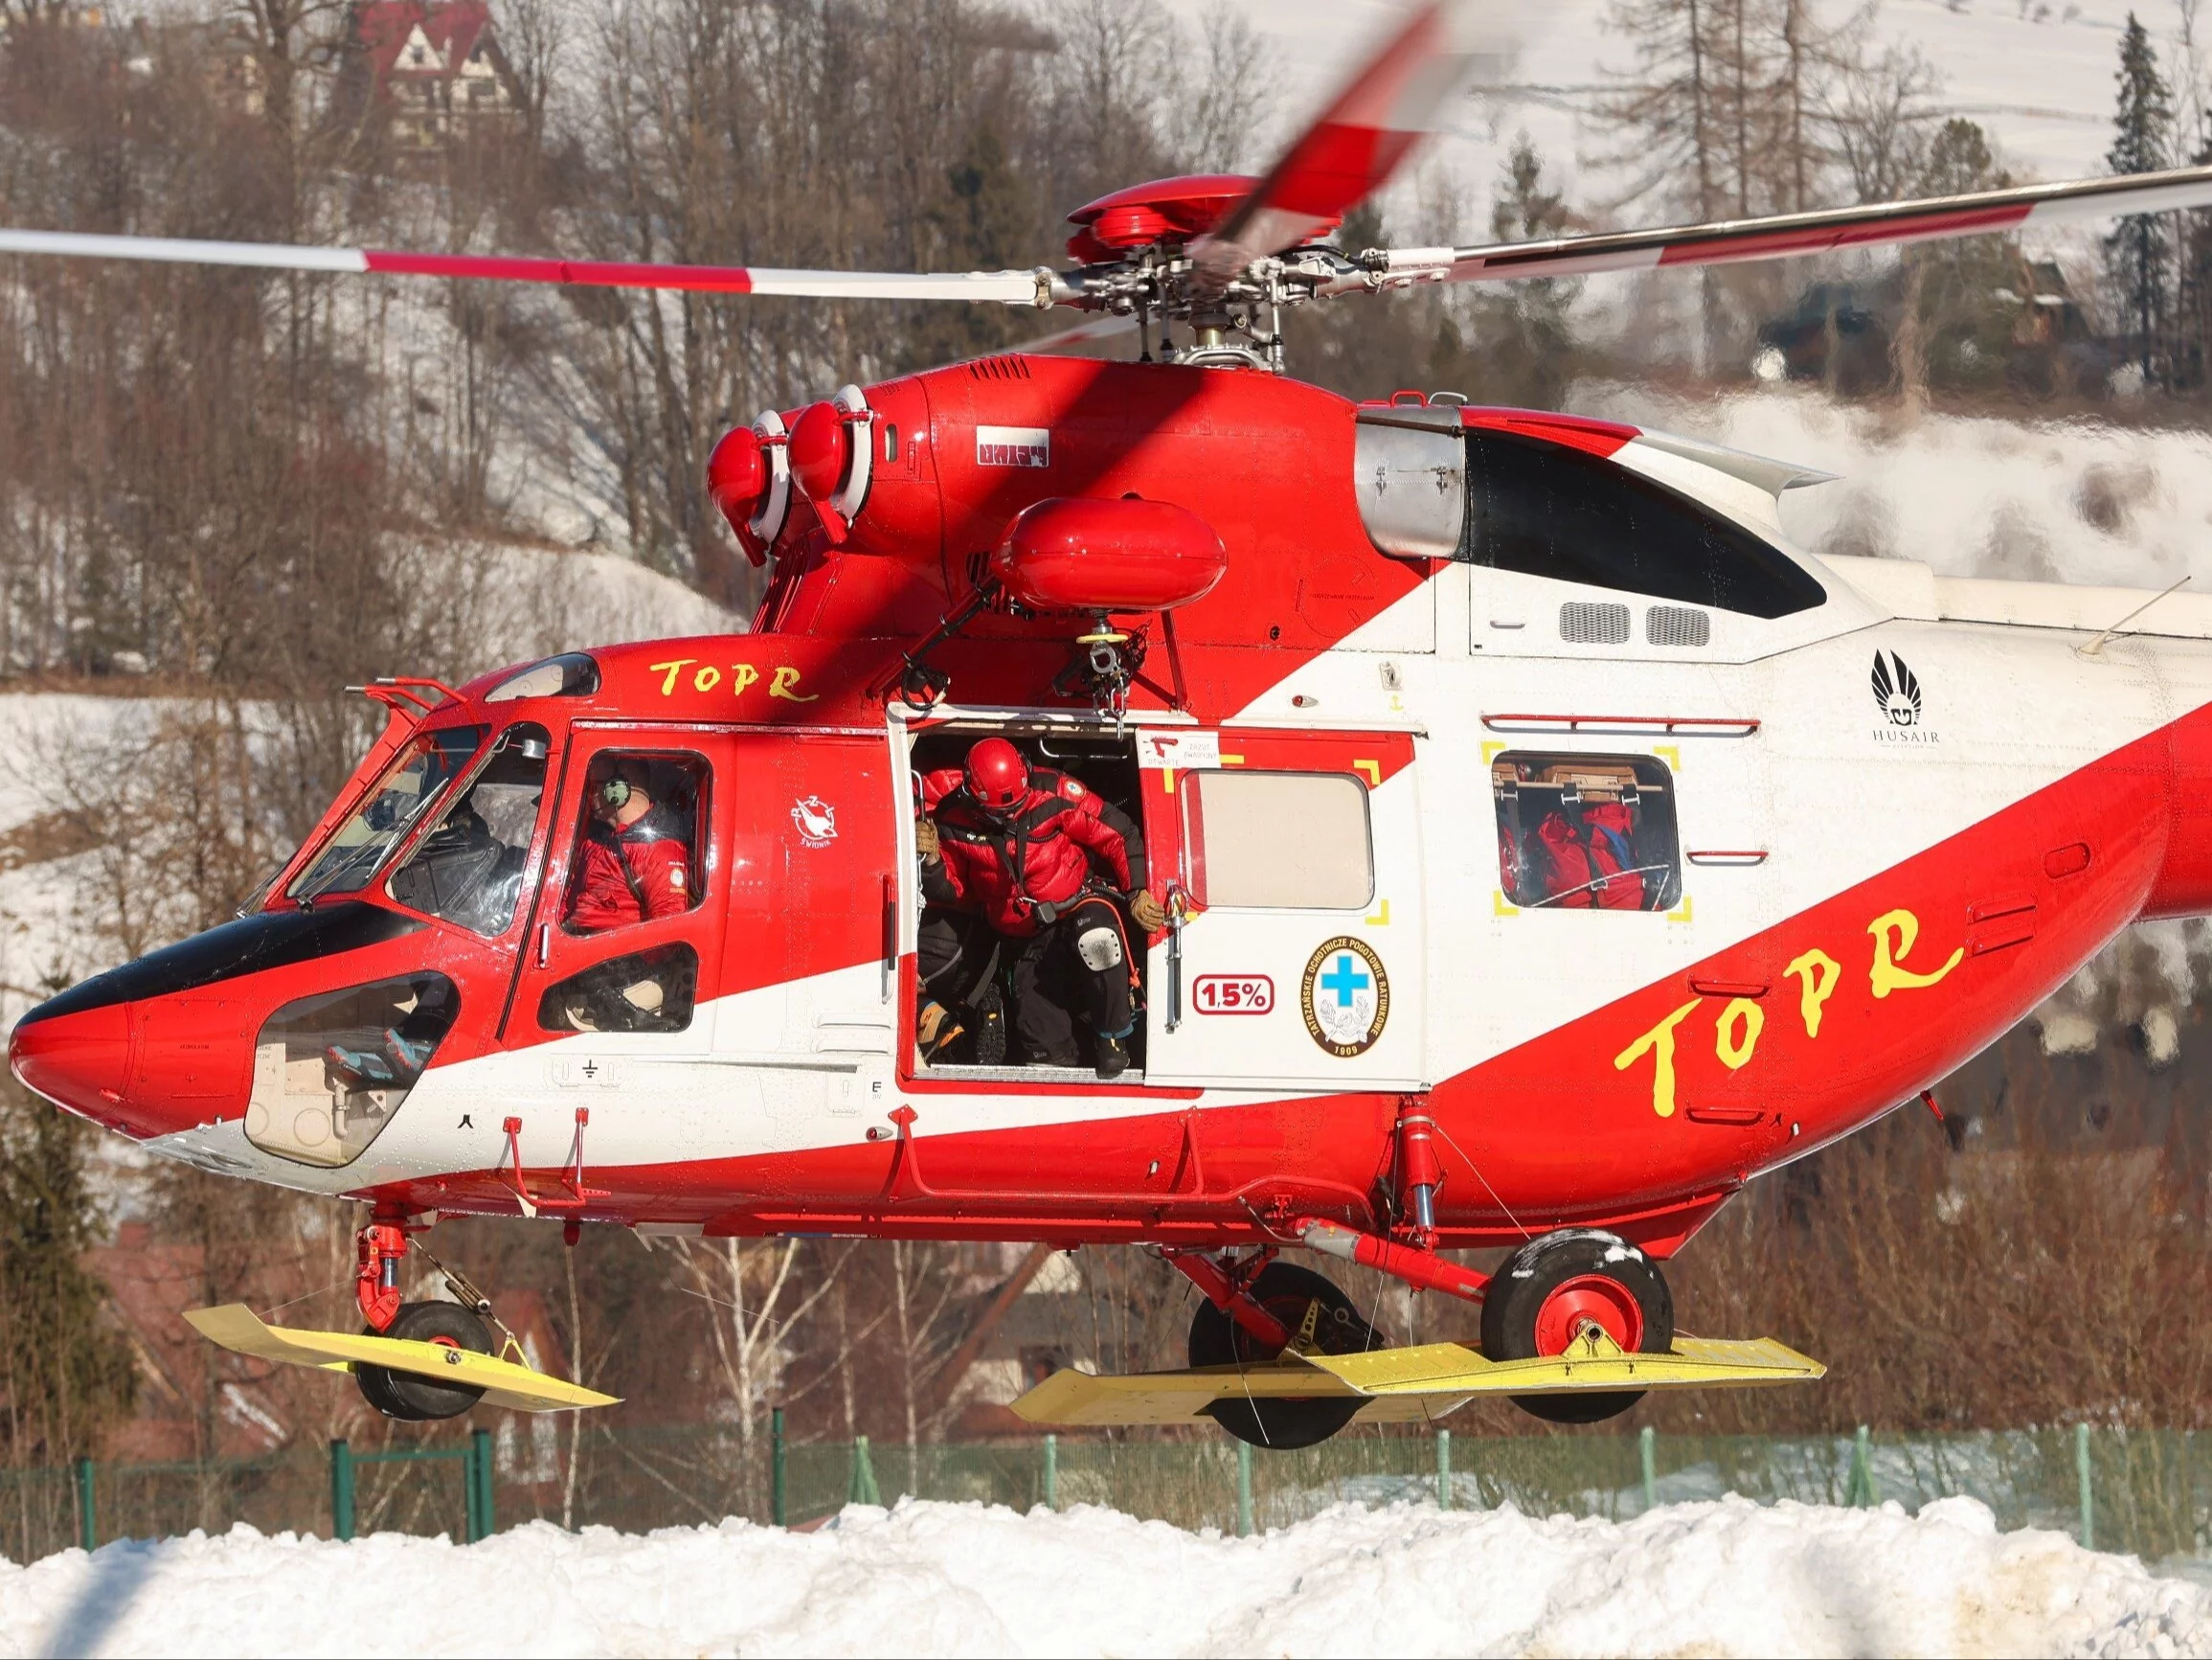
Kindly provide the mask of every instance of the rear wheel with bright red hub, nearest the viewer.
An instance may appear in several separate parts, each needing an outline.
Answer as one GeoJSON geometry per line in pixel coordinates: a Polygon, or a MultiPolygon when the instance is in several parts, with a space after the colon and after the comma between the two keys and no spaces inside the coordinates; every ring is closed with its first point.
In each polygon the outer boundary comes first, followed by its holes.
{"type": "MultiPolygon", "coordinates": [[[[1674,1346],[1674,1297],[1657,1264],[1597,1228],[1566,1228],[1531,1239],[1498,1268],[1482,1301],[1482,1352],[1493,1361],[1564,1355],[1584,1321],[1630,1352],[1674,1346]]],[[[1615,1419],[1644,1390],[1593,1394],[1515,1394],[1513,1403],[1548,1423],[1615,1419]]]]}

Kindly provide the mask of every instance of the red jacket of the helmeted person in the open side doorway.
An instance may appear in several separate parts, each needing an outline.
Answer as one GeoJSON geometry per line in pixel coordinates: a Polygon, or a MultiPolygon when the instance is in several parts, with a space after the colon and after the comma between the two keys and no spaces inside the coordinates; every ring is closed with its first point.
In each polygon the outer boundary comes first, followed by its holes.
{"type": "Polygon", "coordinates": [[[1029,792],[993,823],[949,766],[922,775],[922,810],[938,823],[953,901],[973,905],[1000,934],[1035,934],[1044,925],[1037,903],[1075,899],[1093,857],[1117,890],[1130,890],[1133,828],[1108,823],[1106,803],[1062,772],[1031,772],[1029,792]]]}

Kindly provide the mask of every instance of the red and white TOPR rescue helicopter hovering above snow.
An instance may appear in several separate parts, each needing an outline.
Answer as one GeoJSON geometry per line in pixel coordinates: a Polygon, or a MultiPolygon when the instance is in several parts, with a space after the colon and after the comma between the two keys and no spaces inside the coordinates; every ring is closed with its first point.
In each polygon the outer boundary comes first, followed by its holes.
{"type": "Polygon", "coordinates": [[[2212,204],[2212,168],[1345,252],[1471,7],[1407,13],[1263,179],[1135,186],[1068,268],[608,266],[0,232],[18,255],[1004,301],[1135,328],[770,409],[708,487],[754,629],[365,688],[389,722],[241,914],[15,1027],[15,1076],[204,1169],[372,1206],[354,1366],[394,1417],[604,1401],[405,1304],[438,1215],[1146,1244],[1192,1370],[1064,1372],[1062,1423],[1263,1445],[1509,1392],[1816,1377],[1677,1337],[1659,1264],[1761,1171],[1913,1100],[2143,916],[2212,912],[2212,600],[1792,547],[1820,474],[1606,421],[1287,378],[1285,308],[2212,204]],[[1869,673],[1871,664],[1871,673],[1869,673]],[[1137,826],[1172,914],[1135,1067],[925,1065],[916,775],[1004,735],[1137,826]],[[688,910],[566,925],[628,764],[688,910]],[[1303,1246],[1482,1301],[1383,1348],[1303,1246]],[[1509,1246],[1495,1275],[1440,1253],[1509,1246]]]}

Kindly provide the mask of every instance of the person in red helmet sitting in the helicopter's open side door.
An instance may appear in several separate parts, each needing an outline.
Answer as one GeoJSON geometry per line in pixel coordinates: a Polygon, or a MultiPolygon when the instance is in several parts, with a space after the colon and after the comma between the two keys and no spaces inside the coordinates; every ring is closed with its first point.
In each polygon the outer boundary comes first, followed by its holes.
{"type": "MultiPolygon", "coordinates": [[[[1168,921],[1144,888],[1137,828],[1077,779],[1031,770],[1004,737],[980,739],[958,770],[927,775],[922,806],[922,899],[938,910],[940,932],[947,914],[975,919],[964,930],[953,925],[949,941],[936,941],[940,950],[922,952],[925,987],[931,969],[942,981],[951,967],[947,943],[960,965],[973,961],[973,945],[989,943],[1011,956],[1013,1031],[1024,1058],[1079,1065],[1079,1016],[1093,1034],[1097,1076],[1119,1078],[1137,1020],[1133,952],[1115,899],[1128,894],[1130,919],[1144,932],[1168,921]],[[967,938],[956,938],[960,932],[967,938]]],[[[951,978],[973,985],[980,976],[962,967],[951,978]]],[[[925,1007],[925,1051],[931,1025],[925,1007]]]]}

